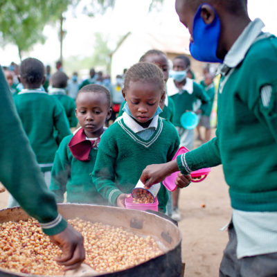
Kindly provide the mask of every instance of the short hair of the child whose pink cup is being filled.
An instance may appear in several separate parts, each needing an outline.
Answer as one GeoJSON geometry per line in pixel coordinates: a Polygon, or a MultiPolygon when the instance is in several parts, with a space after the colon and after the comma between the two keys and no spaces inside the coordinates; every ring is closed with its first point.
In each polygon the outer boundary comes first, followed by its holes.
{"type": "Polygon", "coordinates": [[[161,91],[165,90],[165,82],[161,69],[159,69],[156,64],[151,64],[150,62],[139,62],[127,70],[124,80],[124,89],[129,88],[129,83],[131,81],[156,82],[159,84],[161,91]]]}

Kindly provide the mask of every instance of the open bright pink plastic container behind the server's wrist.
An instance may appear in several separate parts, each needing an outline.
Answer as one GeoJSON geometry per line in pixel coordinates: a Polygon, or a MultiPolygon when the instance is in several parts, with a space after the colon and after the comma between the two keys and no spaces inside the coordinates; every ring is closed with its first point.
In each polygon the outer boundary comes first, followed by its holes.
{"type": "MultiPolygon", "coordinates": [[[[172,160],[175,160],[178,155],[184,154],[188,152],[189,150],[182,146],[179,148],[173,157],[172,160]]],[[[197,183],[199,181],[203,181],[206,179],[208,172],[211,172],[211,168],[202,168],[199,170],[195,170],[193,172],[190,172],[190,176],[192,177],[191,181],[194,183],[197,183]],[[193,178],[199,178],[199,179],[193,179],[193,178]]],[[[172,173],[172,175],[166,177],[166,179],[163,180],[163,186],[165,186],[169,191],[176,190],[177,186],[175,185],[175,180],[178,176],[179,171],[172,173]]]]}

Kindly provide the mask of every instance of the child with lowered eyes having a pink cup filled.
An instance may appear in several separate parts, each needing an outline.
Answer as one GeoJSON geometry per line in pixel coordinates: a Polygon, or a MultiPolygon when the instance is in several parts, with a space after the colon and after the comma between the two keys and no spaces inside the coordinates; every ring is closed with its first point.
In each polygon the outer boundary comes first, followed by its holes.
{"type": "MultiPolygon", "coordinates": [[[[159,117],[164,84],[159,67],[148,62],[134,64],[125,75],[125,112],[102,136],[93,170],[98,192],[114,206],[125,207],[125,197],[145,166],[171,161],[179,148],[175,127],[159,117]]],[[[166,212],[168,193],[164,186],[158,200],[159,210],[166,212]]]]}

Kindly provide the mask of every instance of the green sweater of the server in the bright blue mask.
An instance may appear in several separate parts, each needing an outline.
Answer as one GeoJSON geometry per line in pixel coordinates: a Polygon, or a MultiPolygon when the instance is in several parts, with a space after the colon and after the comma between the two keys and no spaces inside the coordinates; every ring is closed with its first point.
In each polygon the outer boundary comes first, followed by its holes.
{"type": "Polygon", "coordinates": [[[272,35],[254,42],[237,66],[222,69],[216,137],[177,158],[184,174],[222,163],[237,210],[277,211],[276,66],[272,35]]]}

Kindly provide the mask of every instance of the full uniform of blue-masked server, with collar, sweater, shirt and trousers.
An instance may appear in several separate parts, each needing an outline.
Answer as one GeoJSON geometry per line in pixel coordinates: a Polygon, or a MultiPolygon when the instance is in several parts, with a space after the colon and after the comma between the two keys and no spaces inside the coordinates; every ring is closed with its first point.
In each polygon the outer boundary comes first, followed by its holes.
{"type": "Polygon", "coordinates": [[[233,223],[220,276],[277,274],[277,38],[263,26],[249,23],[224,58],[216,137],[177,157],[184,174],[223,165],[233,223]]]}

